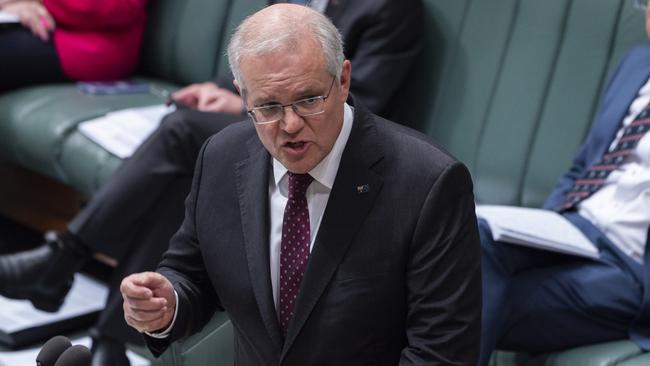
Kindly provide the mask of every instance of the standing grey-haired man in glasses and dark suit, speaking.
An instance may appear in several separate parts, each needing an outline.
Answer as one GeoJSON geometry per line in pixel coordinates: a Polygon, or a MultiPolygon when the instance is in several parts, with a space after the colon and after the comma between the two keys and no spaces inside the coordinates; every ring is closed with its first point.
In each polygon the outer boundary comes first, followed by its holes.
{"type": "Polygon", "coordinates": [[[158,272],[122,282],[127,322],[159,354],[225,310],[238,365],[474,365],[467,169],[346,103],[351,64],[317,12],[262,10],[228,54],[254,122],[203,146],[158,272]]]}

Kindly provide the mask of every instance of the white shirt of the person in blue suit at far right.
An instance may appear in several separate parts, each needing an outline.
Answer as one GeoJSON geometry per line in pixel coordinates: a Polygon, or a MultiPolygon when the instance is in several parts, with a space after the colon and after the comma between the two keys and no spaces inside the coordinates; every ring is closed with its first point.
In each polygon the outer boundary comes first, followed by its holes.
{"type": "MultiPolygon", "coordinates": [[[[630,104],[610,149],[650,102],[650,80],[630,104]]],[[[605,185],[578,205],[578,212],[600,229],[623,253],[643,263],[648,225],[650,225],[650,132],[625,162],[611,172],[605,185]]]]}

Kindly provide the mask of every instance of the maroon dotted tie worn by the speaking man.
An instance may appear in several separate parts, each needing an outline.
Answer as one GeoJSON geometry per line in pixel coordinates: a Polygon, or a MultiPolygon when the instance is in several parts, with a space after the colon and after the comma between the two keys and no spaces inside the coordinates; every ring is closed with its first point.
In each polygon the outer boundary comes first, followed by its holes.
{"type": "Polygon", "coordinates": [[[286,333],[309,260],[309,210],[305,192],[313,178],[289,172],[289,198],[284,209],[280,244],[280,325],[286,333]]]}

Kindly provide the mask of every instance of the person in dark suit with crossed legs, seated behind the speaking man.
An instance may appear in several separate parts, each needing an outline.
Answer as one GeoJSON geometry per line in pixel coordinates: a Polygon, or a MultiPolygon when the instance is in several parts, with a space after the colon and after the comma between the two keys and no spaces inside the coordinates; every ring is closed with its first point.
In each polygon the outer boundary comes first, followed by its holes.
{"type": "MultiPolygon", "coordinates": [[[[351,89],[359,91],[355,101],[384,113],[420,49],[420,1],[330,1],[325,14],[343,35],[355,70],[365,70],[352,76],[351,89]]],[[[205,85],[179,92],[177,98],[192,108],[167,116],[70,222],[68,230],[36,250],[0,256],[0,294],[30,299],[49,311],[58,309],[72,274],[92,254],[118,260],[106,309],[93,328],[93,362],[104,362],[96,364],[126,364],[123,343],[141,342],[123,320],[119,282],[130,273],[155,269],[182,222],[183,200],[201,145],[222,128],[248,118],[240,114],[241,98],[232,92],[198,102],[204,98],[201,90],[217,90],[214,83],[205,85]],[[235,107],[217,107],[221,99],[234,100],[225,104],[235,107]]]]}

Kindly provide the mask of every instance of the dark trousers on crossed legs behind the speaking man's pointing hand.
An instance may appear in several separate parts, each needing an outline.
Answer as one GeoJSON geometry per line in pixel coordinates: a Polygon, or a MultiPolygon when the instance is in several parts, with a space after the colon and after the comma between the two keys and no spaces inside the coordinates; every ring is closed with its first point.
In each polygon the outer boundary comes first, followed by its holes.
{"type": "Polygon", "coordinates": [[[131,273],[156,268],[183,220],[183,202],[201,145],[245,118],[188,109],[171,113],[69,223],[68,230],[83,243],[119,261],[95,331],[141,342],[124,321],[120,282],[131,273]]]}

